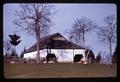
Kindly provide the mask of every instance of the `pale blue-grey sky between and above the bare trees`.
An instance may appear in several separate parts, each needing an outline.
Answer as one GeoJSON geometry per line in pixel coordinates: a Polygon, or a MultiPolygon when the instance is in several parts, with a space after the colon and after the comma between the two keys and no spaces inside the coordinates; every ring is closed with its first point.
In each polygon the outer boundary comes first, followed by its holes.
{"type": "MultiPolygon", "coordinates": [[[[103,19],[109,15],[116,15],[117,9],[115,4],[53,4],[55,10],[58,12],[53,17],[54,26],[51,27],[50,34],[61,33],[65,38],[65,30],[70,29],[74,21],[82,16],[91,18],[98,25],[103,26],[103,19]]],[[[13,34],[16,30],[16,26],[13,24],[15,19],[15,10],[18,10],[18,4],[4,4],[3,7],[3,39],[9,39],[8,35],[13,34]]],[[[31,47],[36,39],[25,32],[17,33],[21,36],[22,42],[16,47],[17,52],[20,54],[21,51],[26,47],[27,49],[31,47]]],[[[94,32],[86,34],[86,46],[90,46],[95,53],[99,51],[109,53],[109,48],[107,44],[98,42],[97,36],[94,32]]],[[[113,45],[114,51],[115,45],[113,45]]]]}

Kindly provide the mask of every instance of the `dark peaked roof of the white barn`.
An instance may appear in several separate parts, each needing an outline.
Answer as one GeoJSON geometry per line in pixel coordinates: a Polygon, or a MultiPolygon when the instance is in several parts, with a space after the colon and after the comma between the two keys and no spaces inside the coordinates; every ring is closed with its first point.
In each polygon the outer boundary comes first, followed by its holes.
{"type": "MultiPolygon", "coordinates": [[[[40,39],[40,49],[84,49],[79,45],[68,41],[60,33],[55,33],[40,39]]],[[[35,43],[30,47],[26,53],[37,50],[37,44],[35,43]]]]}

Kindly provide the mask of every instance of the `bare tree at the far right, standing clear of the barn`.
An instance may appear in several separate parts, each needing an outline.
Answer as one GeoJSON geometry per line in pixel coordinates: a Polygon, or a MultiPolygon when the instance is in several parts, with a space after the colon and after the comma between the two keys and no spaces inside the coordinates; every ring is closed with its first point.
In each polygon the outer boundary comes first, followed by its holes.
{"type": "Polygon", "coordinates": [[[97,31],[98,38],[101,42],[109,43],[110,63],[112,60],[112,43],[116,42],[116,18],[110,15],[104,18],[105,25],[99,27],[97,31]]]}

